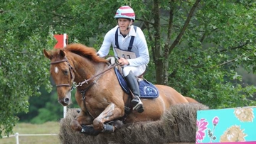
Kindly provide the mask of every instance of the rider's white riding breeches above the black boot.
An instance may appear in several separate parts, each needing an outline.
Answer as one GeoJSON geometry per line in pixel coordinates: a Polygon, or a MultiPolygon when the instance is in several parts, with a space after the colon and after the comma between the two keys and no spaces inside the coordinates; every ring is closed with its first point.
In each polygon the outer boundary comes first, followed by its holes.
{"type": "Polygon", "coordinates": [[[146,70],[146,65],[140,65],[137,67],[125,65],[123,67],[123,75],[124,77],[126,77],[129,74],[129,72],[132,71],[136,77],[139,77],[139,75],[143,74],[145,70],[146,70]]]}

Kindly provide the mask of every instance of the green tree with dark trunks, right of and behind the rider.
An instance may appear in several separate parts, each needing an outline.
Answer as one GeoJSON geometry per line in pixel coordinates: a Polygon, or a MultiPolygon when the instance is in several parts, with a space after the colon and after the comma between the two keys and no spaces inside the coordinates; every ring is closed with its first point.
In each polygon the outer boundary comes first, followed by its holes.
{"type": "MultiPolygon", "coordinates": [[[[133,1],[134,2],[134,1],[133,1]]],[[[237,67],[256,72],[254,1],[153,1],[136,4],[151,48],[156,83],[211,108],[255,105],[237,67]]],[[[139,2],[138,2],[139,3],[139,2]]]]}

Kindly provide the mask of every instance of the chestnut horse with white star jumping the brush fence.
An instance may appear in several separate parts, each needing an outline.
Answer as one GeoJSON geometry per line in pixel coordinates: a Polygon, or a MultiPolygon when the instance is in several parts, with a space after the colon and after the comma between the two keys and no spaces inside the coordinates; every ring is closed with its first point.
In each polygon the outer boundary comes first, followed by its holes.
{"type": "MultiPolygon", "coordinates": [[[[58,50],[43,50],[50,59],[50,74],[57,87],[58,102],[68,106],[71,91],[77,89],[75,99],[81,111],[70,123],[75,131],[97,135],[112,133],[119,128],[120,121],[134,123],[156,121],[171,105],[188,103],[185,96],[165,85],[155,85],[159,96],[142,99],[144,112],[129,111],[125,107],[131,96],[122,90],[112,65],[99,57],[94,48],[81,44],[70,44],[58,50]]],[[[129,105],[128,105],[129,106],[129,105]]]]}

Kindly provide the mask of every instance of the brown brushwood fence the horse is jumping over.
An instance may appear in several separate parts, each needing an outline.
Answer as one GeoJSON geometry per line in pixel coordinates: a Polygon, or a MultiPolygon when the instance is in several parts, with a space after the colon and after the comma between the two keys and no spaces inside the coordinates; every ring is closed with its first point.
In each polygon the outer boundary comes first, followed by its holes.
{"type": "Polygon", "coordinates": [[[76,109],[68,109],[67,116],[60,121],[60,143],[65,144],[193,144],[196,142],[196,113],[208,109],[203,104],[176,104],[166,109],[159,121],[144,121],[126,124],[114,133],[97,136],[73,131],[70,121],[78,115],[76,109]]]}

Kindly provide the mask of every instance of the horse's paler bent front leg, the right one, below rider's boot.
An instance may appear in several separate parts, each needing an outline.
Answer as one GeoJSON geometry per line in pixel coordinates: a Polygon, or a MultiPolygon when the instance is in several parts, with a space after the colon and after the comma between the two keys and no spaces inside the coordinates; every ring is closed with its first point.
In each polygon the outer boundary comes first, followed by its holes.
{"type": "Polygon", "coordinates": [[[114,132],[115,126],[104,124],[107,121],[113,121],[116,118],[124,116],[124,108],[119,108],[111,103],[107,108],[93,120],[93,127],[96,131],[114,132]]]}

